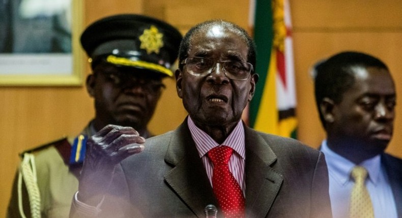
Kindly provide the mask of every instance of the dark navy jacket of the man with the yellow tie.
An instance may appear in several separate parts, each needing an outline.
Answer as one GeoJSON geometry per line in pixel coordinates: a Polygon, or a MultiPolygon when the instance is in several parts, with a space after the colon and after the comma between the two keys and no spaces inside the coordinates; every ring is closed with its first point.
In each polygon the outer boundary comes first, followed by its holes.
{"type": "Polygon", "coordinates": [[[394,195],[396,212],[398,217],[402,217],[402,159],[384,153],[381,157],[381,162],[387,171],[394,195]]]}

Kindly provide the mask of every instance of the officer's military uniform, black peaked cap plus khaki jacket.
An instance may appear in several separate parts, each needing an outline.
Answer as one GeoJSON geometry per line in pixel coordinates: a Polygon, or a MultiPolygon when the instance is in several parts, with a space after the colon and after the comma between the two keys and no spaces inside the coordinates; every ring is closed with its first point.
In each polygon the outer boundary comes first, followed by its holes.
{"type": "MultiPolygon", "coordinates": [[[[102,18],[87,27],[80,39],[93,69],[98,63],[106,63],[119,69],[128,67],[130,74],[135,75],[136,68],[158,80],[173,77],[170,68],[177,59],[181,40],[175,27],[134,14],[102,18]]],[[[114,82],[114,86],[120,84],[114,82]]],[[[63,138],[22,153],[7,217],[24,217],[22,213],[33,218],[69,216],[73,195],[78,190],[85,142],[95,134],[94,123],[75,138],[63,138]]],[[[146,130],[141,136],[151,135],[146,130]]]]}

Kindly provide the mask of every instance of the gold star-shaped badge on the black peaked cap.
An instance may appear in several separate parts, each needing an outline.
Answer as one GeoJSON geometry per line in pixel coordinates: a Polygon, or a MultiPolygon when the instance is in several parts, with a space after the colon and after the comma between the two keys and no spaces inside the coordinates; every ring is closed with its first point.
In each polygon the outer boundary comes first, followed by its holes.
{"type": "Polygon", "coordinates": [[[149,29],[145,29],[139,37],[141,41],[140,49],[147,50],[147,54],[155,52],[159,53],[159,49],[163,47],[163,33],[160,33],[158,28],[152,25],[149,29]]]}

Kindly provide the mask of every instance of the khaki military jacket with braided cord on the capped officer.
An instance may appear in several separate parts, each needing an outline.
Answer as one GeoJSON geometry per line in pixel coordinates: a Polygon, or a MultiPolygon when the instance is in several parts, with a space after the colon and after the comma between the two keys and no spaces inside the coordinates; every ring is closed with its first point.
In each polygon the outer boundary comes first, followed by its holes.
{"type": "MultiPolygon", "coordinates": [[[[90,126],[89,124],[85,127],[79,136],[91,136],[94,131],[90,126]]],[[[29,165],[33,167],[33,171],[36,171],[42,217],[68,217],[72,196],[78,190],[77,176],[82,167],[82,163],[70,163],[73,142],[74,138],[62,138],[21,154],[22,158],[30,154],[33,156],[29,165]]],[[[31,199],[26,188],[30,185],[26,185],[29,181],[21,173],[20,167],[14,179],[7,217],[21,217],[19,205],[22,205],[26,217],[32,217],[31,199]],[[18,188],[20,175],[24,182],[21,183],[21,188],[18,188]],[[19,197],[22,198],[21,203],[18,202],[19,197]]],[[[35,194],[37,193],[34,191],[35,194]]]]}

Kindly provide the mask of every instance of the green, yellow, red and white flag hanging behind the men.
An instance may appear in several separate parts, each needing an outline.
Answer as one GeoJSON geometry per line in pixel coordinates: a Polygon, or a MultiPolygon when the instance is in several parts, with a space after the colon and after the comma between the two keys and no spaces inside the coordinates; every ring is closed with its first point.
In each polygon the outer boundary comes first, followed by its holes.
{"type": "Polygon", "coordinates": [[[288,0],[254,0],[250,27],[260,75],[249,104],[249,125],[259,131],[296,138],[296,93],[292,24],[288,0]]]}

